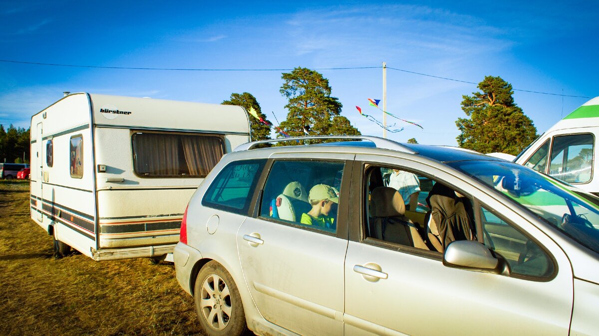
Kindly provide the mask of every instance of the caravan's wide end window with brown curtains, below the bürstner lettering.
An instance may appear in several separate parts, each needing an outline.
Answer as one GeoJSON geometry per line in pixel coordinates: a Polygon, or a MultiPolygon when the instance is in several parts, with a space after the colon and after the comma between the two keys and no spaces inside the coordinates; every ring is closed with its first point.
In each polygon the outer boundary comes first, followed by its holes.
{"type": "Polygon", "coordinates": [[[131,139],[141,177],[203,178],[225,152],[219,136],[136,132],[131,139]]]}

